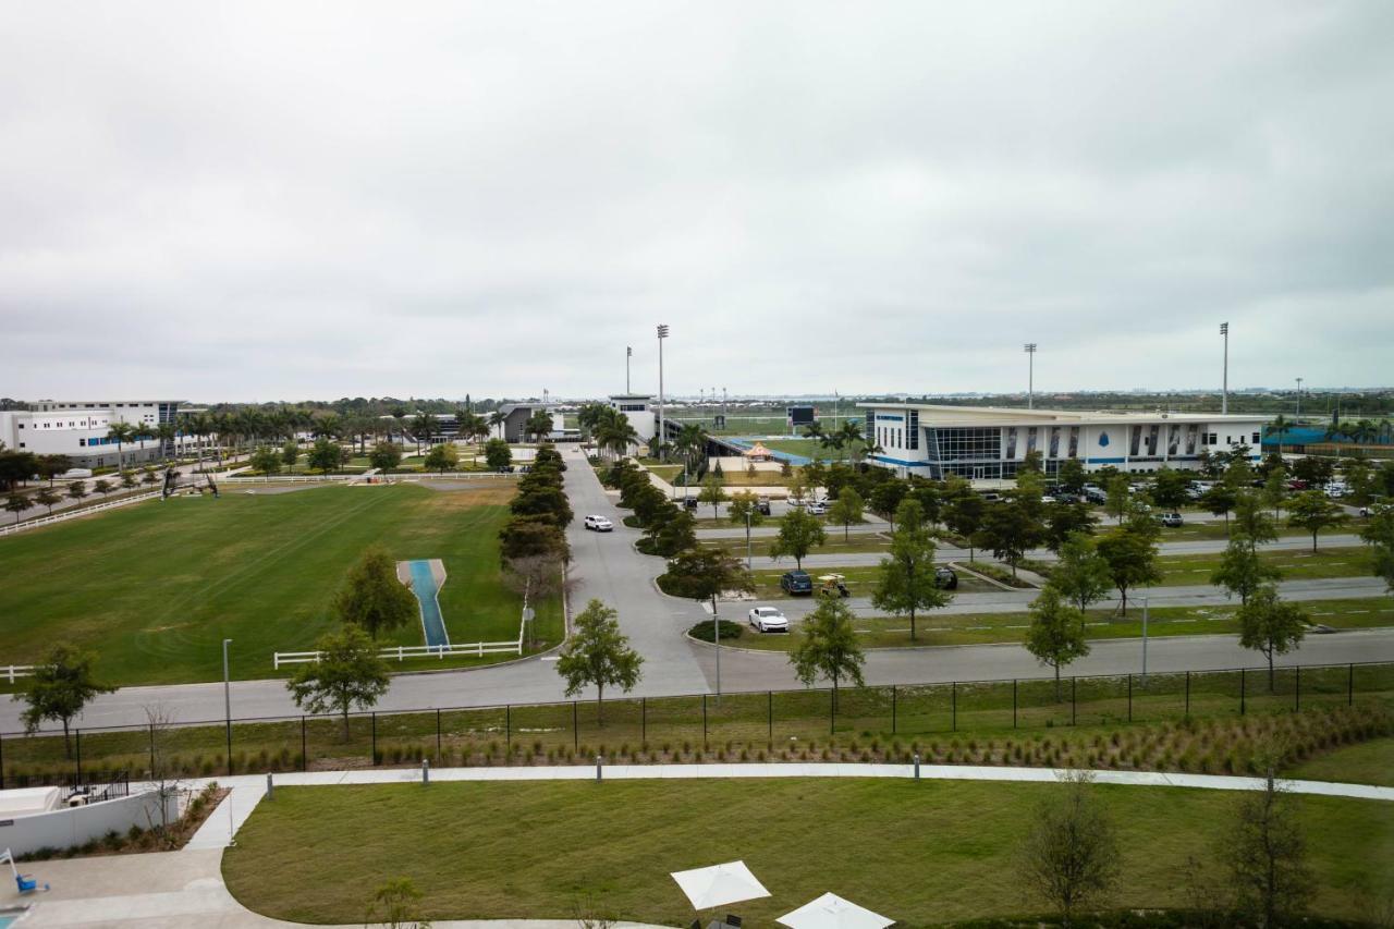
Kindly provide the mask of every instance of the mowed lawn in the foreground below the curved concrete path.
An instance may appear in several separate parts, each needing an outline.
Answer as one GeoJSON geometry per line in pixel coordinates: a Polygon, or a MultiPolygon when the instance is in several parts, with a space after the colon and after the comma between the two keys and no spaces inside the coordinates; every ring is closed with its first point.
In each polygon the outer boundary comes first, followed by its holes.
{"type": "MultiPolygon", "coordinates": [[[[882,778],[291,787],[256,808],[223,876],[244,905],[290,921],[355,923],[378,884],[404,876],[435,919],[565,919],[590,897],[605,915],[679,926],[697,914],[669,872],[739,858],[772,894],[718,911],[747,925],[831,890],[930,926],[1046,909],[1022,896],[1012,855],[1034,806],[1059,790],[882,778]]],[[[1186,856],[1218,870],[1236,795],[1097,790],[1122,852],[1110,904],[1186,905],[1186,856]]],[[[1394,803],[1294,802],[1315,912],[1358,918],[1363,900],[1387,898],[1394,803]]]]}

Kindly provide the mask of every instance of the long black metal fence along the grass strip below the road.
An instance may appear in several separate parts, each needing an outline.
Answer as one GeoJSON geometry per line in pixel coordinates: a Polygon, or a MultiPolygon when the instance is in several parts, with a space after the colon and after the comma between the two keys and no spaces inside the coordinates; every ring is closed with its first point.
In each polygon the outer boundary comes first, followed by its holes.
{"type": "MultiPolygon", "coordinates": [[[[714,746],[807,745],[1291,713],[1394,696],[1394,663],[700,693],[0,734],[0,788],[375,764],[648,760],[714,746]]],[[[739,749],[737,749],[739,750],[739,749]]]]}

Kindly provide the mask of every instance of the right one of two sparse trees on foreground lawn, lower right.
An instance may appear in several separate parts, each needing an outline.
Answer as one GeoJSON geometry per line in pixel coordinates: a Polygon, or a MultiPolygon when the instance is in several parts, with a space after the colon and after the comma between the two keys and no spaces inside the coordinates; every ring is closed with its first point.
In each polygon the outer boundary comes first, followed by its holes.
{"type": "Polygon", "coordinates": [[[1235,908],[1264,929],[1301,914],[1315,890],[1296,810],[1273,769],[1270,760],[1263,790],[1241,794],[1221,845],[1235,908]]]}

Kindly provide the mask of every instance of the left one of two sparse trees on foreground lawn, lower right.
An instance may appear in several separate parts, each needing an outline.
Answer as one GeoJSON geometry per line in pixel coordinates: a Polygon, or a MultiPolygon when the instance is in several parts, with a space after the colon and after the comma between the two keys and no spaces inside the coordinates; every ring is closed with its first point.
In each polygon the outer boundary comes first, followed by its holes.
{"type": "Polygon", "coordinates": [[[1036,809],[1018,847],[1022,883],[1059,911],[1066,929],[1075,912],[1105,894],[1119,872],[1118,836],[1094,796],[1092,776],[1072,771],[1036,809]]]}

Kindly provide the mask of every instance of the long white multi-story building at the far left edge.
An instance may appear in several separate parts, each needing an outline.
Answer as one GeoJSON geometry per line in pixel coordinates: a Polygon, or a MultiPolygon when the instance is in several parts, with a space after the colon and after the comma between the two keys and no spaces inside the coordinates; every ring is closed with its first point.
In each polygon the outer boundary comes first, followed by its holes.
{"type": "MultiPolygon", "coordinates": [[[[117,444],[107,438],[114,423],[159,425],[174,423],[184,400],[39,400],[32,410],[0,411],[0,441],[6,448],[33,455],[66,455],[74,467],[116,466],[117,444]]],[[[153,460],[164,452],[159,439],[128,442],[127,464],[153,460]]]]}

